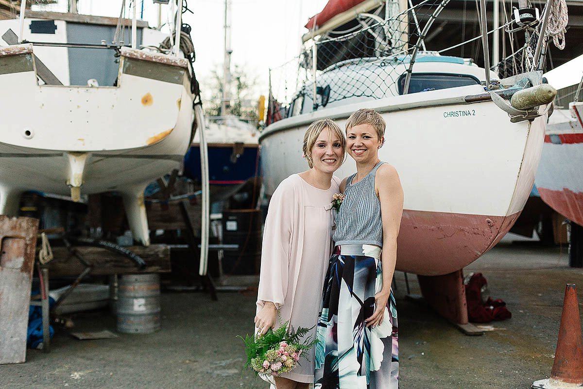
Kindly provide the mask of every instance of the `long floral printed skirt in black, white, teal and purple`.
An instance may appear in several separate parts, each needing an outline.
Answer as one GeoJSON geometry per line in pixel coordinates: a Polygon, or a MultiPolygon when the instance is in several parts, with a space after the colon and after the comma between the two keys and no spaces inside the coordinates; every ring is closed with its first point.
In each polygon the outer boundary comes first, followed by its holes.
{"type": "Polygon", "coordinates": [[[399,343],[395,297],[381,325],[367,327],[382,287],[381,249],[336,246],[322,293],[315,346],[314,389],[397,389],[399,343]]]}

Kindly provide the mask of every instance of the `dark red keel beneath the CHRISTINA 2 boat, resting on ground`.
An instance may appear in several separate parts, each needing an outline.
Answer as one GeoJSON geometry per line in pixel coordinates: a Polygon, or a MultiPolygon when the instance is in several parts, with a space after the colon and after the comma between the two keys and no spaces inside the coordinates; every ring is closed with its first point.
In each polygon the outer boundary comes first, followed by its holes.
{"type": "Polygon", "coordinates": [[[417,279],[423,298],[441,316],[447,318],[466,335],[484,333],[468,321],[462,269],[444,275],[417,275],[417,279]]]}

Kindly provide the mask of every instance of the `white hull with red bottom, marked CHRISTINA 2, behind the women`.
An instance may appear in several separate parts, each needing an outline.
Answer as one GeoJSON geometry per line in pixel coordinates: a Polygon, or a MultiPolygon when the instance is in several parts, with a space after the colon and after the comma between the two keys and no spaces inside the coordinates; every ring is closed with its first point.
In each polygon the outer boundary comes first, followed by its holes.
{"type": "MultiPolygon", "coordinates": [[[[461,103],[479,93],[479,85],[456,87],[278,121],[260,139],[266,193],[289,174],[308,169],[301,142],[310,122],[332,117],[343,128],[354,110],[374,108],[387,122],[380,159],[396,167],[405,193],[396,268],[419,275],[461,269],[493,247],[518,218],[545,134],[546,116],[511,123],[492,101],[461,103]],[[459,104],[439,105],[456,97],[459,104]],[[424,107],[408,108],[419,101],[426,101],[424,107]]],[[[347,157],[336,176],[354,171],[347,157]]]]}

